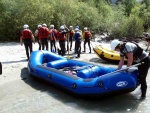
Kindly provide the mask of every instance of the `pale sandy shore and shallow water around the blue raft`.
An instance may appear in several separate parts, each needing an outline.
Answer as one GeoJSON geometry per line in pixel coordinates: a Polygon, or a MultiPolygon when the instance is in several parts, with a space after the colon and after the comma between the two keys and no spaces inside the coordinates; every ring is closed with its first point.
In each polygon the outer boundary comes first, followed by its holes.
{"type": "MultiPolygon", "coordinates": [[[[0,113],[150,113],[150,71],[146,99],[139,98],[139,87],[128,94],[97,100],[82,99],[30,77],[24,47],[18,43],[1,43],[0,53],[3,64],[0,113]]],[[[117,66],[101,60],[94,53],[81,54],[81,57],[78,60],[117,66]]]]}

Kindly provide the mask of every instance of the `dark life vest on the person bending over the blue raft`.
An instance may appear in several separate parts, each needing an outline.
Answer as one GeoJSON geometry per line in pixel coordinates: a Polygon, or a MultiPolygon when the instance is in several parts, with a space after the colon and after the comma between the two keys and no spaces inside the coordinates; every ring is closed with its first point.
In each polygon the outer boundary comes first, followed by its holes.
{"type": "MultiPolygon", "coordinates": [[[[136,42],[131,42],[131,43],[137,46],[135,53],[133,53],[133,60],[136,61],[142,55],[143,49],[136,42]]],[[[126,56],[126,53],[123,52],[123,50],[125,49],[125,45],[126,45],[126,42],[124,42],[121,45],[120,52],[125,56],[125,58],[128,59],[128,57],[126,56]]]]}

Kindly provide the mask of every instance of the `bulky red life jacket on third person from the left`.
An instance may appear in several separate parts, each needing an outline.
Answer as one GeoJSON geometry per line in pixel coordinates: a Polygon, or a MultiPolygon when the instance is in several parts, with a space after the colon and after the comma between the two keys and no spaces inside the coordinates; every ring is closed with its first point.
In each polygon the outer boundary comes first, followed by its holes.
{"type": "Polygon", "coordinates": [[[47,38],[49,34],[50,34],[50,31],[46,27],[40,27],[38,29],[38,36],[40,38],[47,38]]]}

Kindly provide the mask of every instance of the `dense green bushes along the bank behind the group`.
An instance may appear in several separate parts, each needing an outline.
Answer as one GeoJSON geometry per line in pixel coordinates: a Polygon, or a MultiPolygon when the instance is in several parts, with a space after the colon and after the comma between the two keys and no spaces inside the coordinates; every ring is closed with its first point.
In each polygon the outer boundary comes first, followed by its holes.
{"type": "Polygon", "coordinates": [[[150,28],[150,0],[0,0],[0,40],[19,41],[24,24],[88,27],[114,38],[135,38],[150,28]],[[144,29],[143,29],[144,27],[144,29]]]}

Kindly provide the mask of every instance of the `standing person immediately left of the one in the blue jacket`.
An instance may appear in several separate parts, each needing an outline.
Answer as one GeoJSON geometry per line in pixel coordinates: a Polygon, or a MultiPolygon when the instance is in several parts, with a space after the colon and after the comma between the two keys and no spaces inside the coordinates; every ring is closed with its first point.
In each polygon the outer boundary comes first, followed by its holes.
{"type": "Polygon", "coordinates": [[[68,42],[68,44],[67,44],[67,51],[69,50],[69,44],[70,44],[70,51],[71,51],[71,49],[72,49],[72,41],[73,41],[73,35],[75,34],[75,32],[74,32],[74,30],[73,30],[73,26],[70,26],[69,27],[69,32],[68,32],[68,34],[67,34],[67,42],[68,42]]]}

